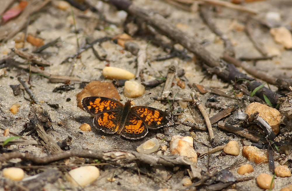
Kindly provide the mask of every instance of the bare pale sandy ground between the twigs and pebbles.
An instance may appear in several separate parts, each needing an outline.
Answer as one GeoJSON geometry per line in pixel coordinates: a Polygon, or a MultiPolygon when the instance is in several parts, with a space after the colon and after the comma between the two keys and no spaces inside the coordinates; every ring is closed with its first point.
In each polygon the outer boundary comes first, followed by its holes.
{"type": "MultiPolygon", "coordinates": [[[[104,11],[104,14],[109,20],[119,21],[117,16],[117,11],[115,8],[101,3],[92,1],[93,5],[98,5],[104,11]]],[[[55,2],[56,3],[56,2],[55,2]]],[[[166,4],[163,1],[152,1],[152,0],[135,0],[135,4],[143,6],[144,8],[152,8],[157,11],[165,11],[170,15],[167,18],[173,24],[180,24],[181,29],[186,33],[195,36],[199,41],[207,41],[208,43],[205,45],[205,48],[214,54],[217,57],[220,57],[223,53],[223,43],[218,40],[215,34],[213,34],[210,29],[204,24],[204,22],[199,17],[199,13],[188,13],[174,6],[166,4]]],[[[250,4],[244,4],[244,6],[256,9],[259,11],[259,15],[257,18],[264,19],[265,14],[269,11],[278,12],[281,14],[281,23],[284,26],[290,25],[292,18],[292,4],[290,1],[258,1],[250,4]],[[285,4],[286,6],[283,6],[285,4]]],[[[232,27],[234,23],[237,26],[243,25],[243,21],[245,19],[246,14],[240,13],[238,11],[230,10],[227,8],[219,8],[220,11],[213,13],[212,17],[214,18],[218,27],[225,32],[225,34],[231,39],[234,44],[234,48],[237,54],[237,57],[241,56],[260,56],[260,53],[253,47],[253,44],[246,36],[244,30],[236,30],[232,27]]],[[[94,16],[94,13],[90,11],[88,13],[82,13],[81,11],[73,8],[74,14],[77,20],[77,29],[82,29],[81,33],[78,34],[79,43],[82,44],[84,41],[84,36],[88,36],[91,39],[97,39],[105,36],[112,36],[115,34],[121,34],[123,29],[121,27],[114,27],[109,30],[94,30],[91,25],[91,21],[88,19],[94,16]],[[82,16],[82,17],[81,17],[82,16]]],[[[46,59],[53,63],[52,66],[46,67],[45,71],[51,74],[61,74],[61,75],[69,75],[70,68],[74,65],[74,70],[72,72],[72,76],[80,77],[81,79],[88,79],[90,81],[93,80],[106,80],[102,76],[102,72],[100,69],[104,68],[107,62],[99,61],[95,58],[92,50],[85,51],[81,54],[81,58],[75,60],[72,63],[64,63],[60,64],[62,60],[67,58],[67,56],[76,53],[77,45],[76,45],[76,37],[75,34],[72,33],[74,27],[69,23],[69,18],[72,16],[71,9],[68,8],[65,11],[62,11],[55,7],[53,4],[48,4],[45,8],[43,8],[38,14],[38,18],[28,27],[28,33],[35,35],[37,31],[40,33],[37,35],[38,37],[45,39],[45,42],[49,42],[58,37],[61,37],[62,41],[59,43],[58,47],[50,47],[47,48],[42,55],[46,56],[46,59]]],[[[96,16],[95,16],[96,17],[96,16]]],[[[96,19],[95,19],[96,21],[96,19]]],[[[291,59],[291,51],[285,50],[281,45],[276,44],[271,35],[269,34],[268,29],[265,28],[257,28],[256,34],[258,38],[264,43],[267,47],[268,51],[277,50],[279,52],[279,56],[273,58],[272,60],[259,61],[256,63],[256,68],[261,71],[265,71],[274,76],[286,76],[290,78],[292,76],[291,69],[283,69],[286,67],[291,67],[290,59],[291,59]]],[[[135,40],[140,47],[146,48],[148,41],[145,40],[135,40]]],[[[0,46],[0,59],[5,58],[7,53],[10,52],[9,48],[13,48],[15,42],[13,39],[8,40],[6,43],[1,43],[0,46]]],[[[121,46],[114,44],[113,42],[105,42],[102,44],[102,47],[107,52],[107,59],[110,60],[110,66],[124,68],[132,73],[136,72],[135,62],[129,64],[128,61],[134,61],[135,56],[131,56],[128,58],[126,55],[131,55],[129,52],[125,51],[121,46]],[[121,53],[121,50],[124,50],[124,53],[121,53]]],[[[33,46],[26,43],[25,48],[29,48],[33,50],[33,46]]],[[[147,48],[147,56],[149,58],[154,58],[156,55],[165,53],[161,48],[158,48],[153,45],[149,45],[147,48]]],[[[192,54],[190,54],[192,55],[192,54]]],[[[19,60],[21,60],[19,58],[19,60]]],[[[252,64],[252,63],[251,63],[252,64]]],[[[178,69],[183,68],[186,71],[185,77],[191,83],[199,83],[206,75],[206,72],[201,69],[200,66],[194,64],[192,60],[180,60],[178,58],[173,58],[166,61],[161,62],[151,62],[151,67],[147,66],[145,70],[145,80],[152,80],[156,77],[160,77],[159,72],[162,75],[167,74],[168,67],[171,65],[175,65],[178,69]]],[[[29,101],[24,99],[23,93],[21,95],[15,96],[13,95],[13,91],[9,85],[19,84],[17,80],[18,76],[21,76],[23,79],[28,80],[29,74],[26,71],[17,69],[12,67],[10,71],[7,71],[6,77],[0,79],[0,103],[3,111],[0,117],[0,125],[3,128],[9,128],[10,131],[14,133],[19,133],[23,129],[23,125],[28,120],[28,113],[30,103],[29,101]],[[17,114],[12,114],[9,111],[9,108],[14,104],[19,103],[20,108],[17,114]]],[[[217,87],[223,91],[231,92],[231,88],[229,84],[224,83],[215,77],[213,80],[212,76],[207,76],[201,82],[202,85],[206,87],[217,87]],[[215,80],[214,80],[215,79],[215,80]]],[[[110,81],[110,80],[106,80],[110,81]]],[[[137,80],[140,82],[139,80],[137,80]]],[[[53,89],[58,87],[60,84],[51,84],[48,82],[48,79],[41,77],[39,75],[32,75],[31,77],[32,83],[32,91],[36,95],[39,100],[43,100],[44,103],[41,106],[47,110],[51,116],[53,121],[54,130],[48,131],[48,133],[52,136],[55,141],[63,140],[67,138],[67,136],[72,136],[73,143],[71,148],[88,148],[92,150],[110,150],[110,149],[124,149],[124,150],[136,150],[136,148],[146,140],[155,137],[156,133],[163,133],[162,130],[150,130],[145,138],[140,140],[128,140],[122,138],[118,135],[108,135],[102,133],[101,131],[95,129],[92,124],[92,117],[87,114],[85,111],[81,110],[77,107],[76,103],[76,94],[81,91],[79,88],[79,84],[73,84],[75,87],[74,90],[61,93],[53,93],[53,89]],[[71,98],[71,101],[66,101],[67,98],[71,98]],[[58,103],[60,108],[53,109],[46,104],[48,103],[58,103]],[[64,126],[58,126],[59,121],[64,121],[64,126]],[[79,130],[79,126],[83,123],[88,123],[92,127],[92,131],[83,132],[79,130]],[[101,138],[101,136],[105,136],[105,138],[101,138]]],[[[151,96],[159,96],[163,90],[163,85],[157,86],[155,88],[148,88],[145,91],[146,93],[152,93],[151,96]]],[[[276,90],[277,88],[271,86],[272,90],[276,90]]],[[[123,88],[119,88],[123,91],[123,88]]],[[[177,97],[190,98],[191,90],[186,86],[185,89],[181,89],[180,87],[174,85],[171,88],[173,94],[178,93],[177,97]]],[[[205,95],[201,95],[200,98],[203,104],[206,102],[207,98],[210,96],[210,93],[205,95]]],[[[29,96],[25,93],[25,97],[29,96]]],[[[121,95],[122,103],[126,101],[126,99],[121,95]]],[[[218,97],[220,101],[226,103],[226,105],[237,105],[236,100],[230,98],[218,97]]],[[[246,101],[240,102],[243,107],[248,105],[246,101]]],[[[135,100],[135,105],[147,105],[151,107],[156,107],[161,110],[166,110],[169,106],[163,105],[160,102],[154,101],[150,99],[150,96],[145,96],[135,100]]],[[[176,108],[178,108],[177,106],[176,108]]],[[[191,109],[185,109],[185,113],[178,118],[178,121],[185,121],[186,119],[192,119],[196,123],[204,124],[204,119],[202,118],[199,111],[190,107],[191,109]]],[[[215,110],[213,108],[206,107],[210,116],[219,112],[219,110],[215,110]]],[[[178,125],[176,127],[170,128],[170,137],[173,135],[185,135],[189,132],[189,127],[178,125]]],[[[0,134],[3,131],[0,130],[0,134]]],[[[227,137],[226,133],[214,128],[215,138],[218,142],[225,140],[227,137]]],[[[198,141],[209,145],[208,133],[206,132],[196,132],[196,138],[198,141]]],[[[28,139],[32,139],[30,136],[25,136],[28,139]]],[[[240,143],[240,138],[236,137],[234,140],[237,140],[242,149],[242,145],[240,143]]],[[[161,144],[165,145],[167,142],[161,141],[161,144]]],[[[20,151],[28,150],[33,154],[38,156],[46,155],[42,150],[38,147],[34,146],[11,146],[11,148],[18,148],[20,151]]],[[[194,148],[197,152],[206,151],[208,147],[202,145],[199,142],[194,142],[194,148]]],[[[216,169],[223,169],[227,166],[230,166],[237,159],[246,160],[242,157],[242,154],[239,156],[225,156],[218,157],[220,152],[210,155],[210,166],[217,167],[216,169]]],[[[17,160],[15,162],[18,162],[17,160]]],[[[260,173],[270,173],[268,169],[268,164],[256,165],[252,162],[247,163],[251,164],[255,171],[250,173],[249,176],[258,176],[260,173]]],[[[276,166],[279,165],[275,162],[276,166]]],[[[203,170],[207,170],[208,165],[208,157],[204,157],[198,159],[197,166],[202,168],[203,170]]],[[[135,170],[137,168],[135,165],[132,165],[132,169],[135,170]]],[[[85,190],[158,190],[160,188],[174,188],[175,186],[179,186],[180,180],[184,177],[187,177],[187,173],[184,172],[184,169],[173,170],[173,169],[154,169],[151,167],[143,167],[141,166],[141,171],[149,172],[152,177],[147,177],[142,175],[141,181],[139,180],[139,176],[137,173],[130,168],[121,168],[117,171],[114,171],[111,167],[103,167],[101,169],[101,176],[95,183],[86,187],[85,190]],[[112,177],[114,174],[116,181],[110,183],[107,181],[108,177],[112,177]],[[167,181],[167,184],[161,182],[158,179],[153,177],[158,177],[162,180],[166,180],[168,175],[172,175],[172,177],[167,181]]],[[[236,173],[237,169],[231,170],[232,173],[236,177],[243,177],[236,173]]],[[[28,176],[28,175],[26,175],[28,176]]],[[[275,180],[275,188],[273,190],[280,190],[285,185],[290,184],[292,178],[277,178],[275,180]]],[[[261,190],[256,185],[256,180],[250,180],[248,182],[237,183],[237,186],[246,189],[246,190],[261,190]]],[[[60,190],[64,189],[76,189],[73,188],[72,185],[67,183],[66,181],[60,179],[54,184],[48,184],[46,186],[47,190],[60,190]]],[[[3,188],[0,188],[3,190],[3,188]]]]}

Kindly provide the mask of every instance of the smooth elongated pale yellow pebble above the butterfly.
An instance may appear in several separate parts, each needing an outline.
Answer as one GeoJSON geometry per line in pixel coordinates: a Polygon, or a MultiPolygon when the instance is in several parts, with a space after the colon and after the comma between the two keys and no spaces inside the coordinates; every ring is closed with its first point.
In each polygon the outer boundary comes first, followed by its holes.
{"type": "Polygon", "coordinates": [[[128,70],[124,70],[116,67],[105,67],[102,70],[102,75],[107,79],[127,79],[130,80],[135,77],[135,75],[128,70]]]}

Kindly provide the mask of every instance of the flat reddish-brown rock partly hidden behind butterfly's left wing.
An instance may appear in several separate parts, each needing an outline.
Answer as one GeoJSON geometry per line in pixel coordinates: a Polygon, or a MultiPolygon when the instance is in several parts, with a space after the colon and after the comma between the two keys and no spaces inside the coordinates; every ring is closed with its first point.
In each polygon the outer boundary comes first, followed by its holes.
{"type": "Polygon", "coordinates": [[[83,90],[76,95],[77,107],[83,109],[81,100],[85,97],[90,96],[101,96],[107,98],[114,98],[118,101],[121,100],[117,88],[115,88],[112,82],[108,81],[92,81],[89,84],[87,84],[83,88],[83,90]]]}

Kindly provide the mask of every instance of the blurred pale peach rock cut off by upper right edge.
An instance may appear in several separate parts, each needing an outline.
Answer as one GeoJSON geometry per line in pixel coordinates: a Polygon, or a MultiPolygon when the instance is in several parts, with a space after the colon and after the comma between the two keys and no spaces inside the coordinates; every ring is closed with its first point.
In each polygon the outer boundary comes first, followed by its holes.
{"type": "Polygon", "coordinates": [[[277,43],[282,44],[287,49],[292,48],[292,35],[288,29],[285,27],[271,28],[270,33],[277,43]]]}

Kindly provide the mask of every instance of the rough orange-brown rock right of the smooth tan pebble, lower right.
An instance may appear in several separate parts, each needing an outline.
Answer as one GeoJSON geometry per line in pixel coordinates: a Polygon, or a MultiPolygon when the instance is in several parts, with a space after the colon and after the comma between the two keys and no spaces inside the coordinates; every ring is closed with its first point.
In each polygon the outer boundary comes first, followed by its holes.
{"type": "Polygon", "coordinates": [[[268,152],[262,151],[255,146],[243,146],[242,156],[246,157],[250,162],[256,164],[265,164],[268,162],[268,152]]]}

